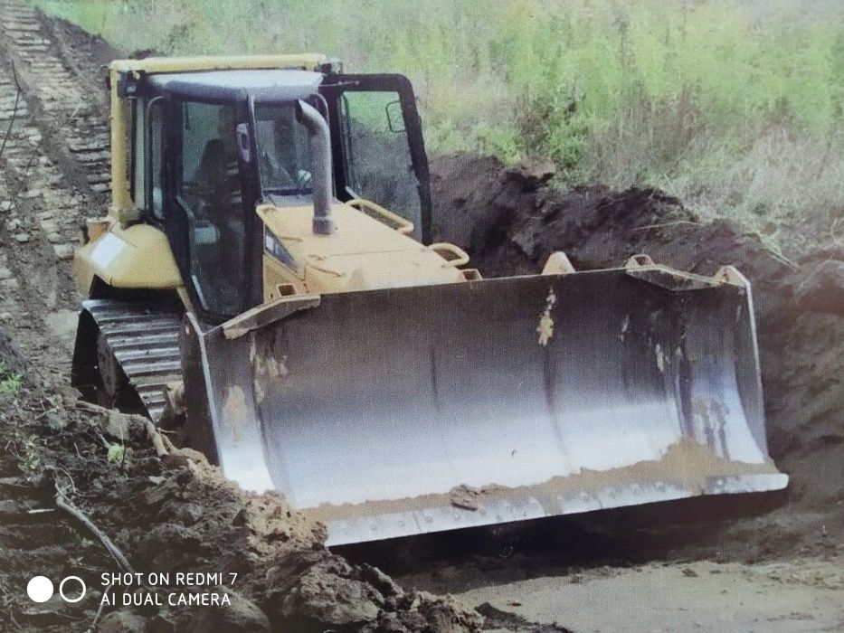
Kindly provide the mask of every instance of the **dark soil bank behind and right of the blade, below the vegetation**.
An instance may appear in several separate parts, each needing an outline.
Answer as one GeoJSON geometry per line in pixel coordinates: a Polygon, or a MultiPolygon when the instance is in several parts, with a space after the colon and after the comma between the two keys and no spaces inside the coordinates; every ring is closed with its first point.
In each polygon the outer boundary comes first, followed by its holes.
{"type": "Polygon", "coordinates": [[[659,191],[561,191],[542,165],[508,169],[492,158],[450,156],[433,161],[431,174],[434,240],[467,248],[488,277],[536,273],[555,250],[576,269],[617,267],[644,252],[705,275],[722,264],[741,270],[754,290],[770,448],[792,477],[789,505],[761,522],[773,524],[773,534],[756,541],[839,539],[844,251],[819,244],[794,265],[730,222],[703,222],[659,191]]]}

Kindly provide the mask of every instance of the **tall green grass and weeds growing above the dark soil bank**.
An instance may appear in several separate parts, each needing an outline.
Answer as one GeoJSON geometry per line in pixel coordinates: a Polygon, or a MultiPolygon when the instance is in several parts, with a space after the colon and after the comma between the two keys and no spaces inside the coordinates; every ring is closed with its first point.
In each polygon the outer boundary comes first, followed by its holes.
{"type": "MultiPolygon", "coordinates": [[[[779,223],[844,208],[835,0],[40,0],[126,51],[321,51],[400,71],[432,154],[551,158],[779,223]]],[[[829,222],[828,222],[829,221],[829,222]]]]}

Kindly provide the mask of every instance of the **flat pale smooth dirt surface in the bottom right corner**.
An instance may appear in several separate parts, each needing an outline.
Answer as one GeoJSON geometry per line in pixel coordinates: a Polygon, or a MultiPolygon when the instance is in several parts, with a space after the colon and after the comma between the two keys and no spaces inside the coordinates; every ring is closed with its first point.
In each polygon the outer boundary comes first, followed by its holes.
{"type": "Polygon", "coordinates": [[[483,587],[459,598],[584,633],[839,631],[842,562],[652,562],[483,587]]]}

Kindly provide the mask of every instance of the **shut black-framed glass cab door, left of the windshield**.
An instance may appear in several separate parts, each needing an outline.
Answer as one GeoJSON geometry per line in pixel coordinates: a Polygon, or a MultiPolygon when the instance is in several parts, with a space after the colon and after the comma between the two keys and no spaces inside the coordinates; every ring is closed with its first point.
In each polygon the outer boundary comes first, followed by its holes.
{"type": "Polygon", "coordinates": [[[177,88],[168,99],[166,233],[194,308],[219,322],[261,303],[256,176],[244,160],[251,148],[238,151],[249,111],[242,99],[177,88]]]}

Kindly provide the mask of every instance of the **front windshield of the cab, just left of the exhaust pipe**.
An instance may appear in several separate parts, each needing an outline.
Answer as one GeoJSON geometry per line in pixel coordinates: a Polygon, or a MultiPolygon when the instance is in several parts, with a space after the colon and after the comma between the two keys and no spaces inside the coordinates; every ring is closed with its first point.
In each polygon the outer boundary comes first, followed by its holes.
{"type": "Polygon", "coordinates": [[[308,130],[296,120],[293,104],[256,105],[255,137],[261,190],[276,194],[309,193],[308,130]]]}

